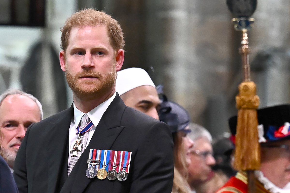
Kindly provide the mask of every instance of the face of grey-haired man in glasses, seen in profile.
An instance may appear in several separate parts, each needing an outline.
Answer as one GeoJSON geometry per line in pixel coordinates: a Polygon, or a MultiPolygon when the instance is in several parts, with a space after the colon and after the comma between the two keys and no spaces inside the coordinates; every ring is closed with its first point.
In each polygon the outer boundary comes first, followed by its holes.
{"type": "Polygon", "coordinates": [[[192,153],[190,154],[191,164],[188,167],[188,182],[190,184],[203,182],[209,178],[212,172],[211,166],[215,164],[212,154],[213,148],[211,143],[205,137],[194,141],[192,153]]]}

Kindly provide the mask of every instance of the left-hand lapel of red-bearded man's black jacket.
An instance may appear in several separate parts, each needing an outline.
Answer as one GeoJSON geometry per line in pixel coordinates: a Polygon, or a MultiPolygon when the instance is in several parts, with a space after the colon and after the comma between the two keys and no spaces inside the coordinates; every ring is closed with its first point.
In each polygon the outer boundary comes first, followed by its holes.
{"type": "Polygon", "coordinates": [[[68,163],[68,133],[71,119],[73,117],[73,106],[63,111],[62,115],[48,132],[46,144],[48,146],[48,192],[55,192],[59,187],[60,181],[67,178],[67,173],[63,174],[63,167],[68,163]],[[53,143],[52,143],[53,141],[53,143]]]}

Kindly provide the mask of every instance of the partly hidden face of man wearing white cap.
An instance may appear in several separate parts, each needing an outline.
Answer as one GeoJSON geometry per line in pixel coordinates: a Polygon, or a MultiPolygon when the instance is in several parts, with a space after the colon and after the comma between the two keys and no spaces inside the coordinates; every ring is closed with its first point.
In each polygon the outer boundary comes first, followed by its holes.
{"type": "Polygon", "coordinates": [[[160,106],[160,100],[154,87],[149,85],[136,87],[122,94],[121,98],[126,106],[159,120],[157,109],[160,106]]]}

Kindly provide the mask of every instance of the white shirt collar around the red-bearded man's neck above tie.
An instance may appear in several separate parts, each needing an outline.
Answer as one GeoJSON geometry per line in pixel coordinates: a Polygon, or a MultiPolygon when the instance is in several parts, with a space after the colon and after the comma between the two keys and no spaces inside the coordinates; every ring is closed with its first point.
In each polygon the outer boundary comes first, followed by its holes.
{"type": "Polygon", "coordinates": [[[81,112],[79,109],[77,109],[77,107],[75,106],[75,102],[73,103],[73,112],[74,112],[74,121],[75,121],[75,127],[77,128],[77,126],[79,125],[79,123],[81,122],[81,117],[84,114],[87,114],[88,117],[90,118],[90,120],[93,122],[94,126],[96,127],[103,114],[105,113],[105,111],[108,109],[109,105],[111,104],[111,102],[114,100],[114,98],[116,97],[116,92],[113,94],[113,96],[111,96],[108,100],[104,101],[103,103],[99,104],[98,106],[96,106],[94,109],[92,109],[90,112],[88,113],[83,113],[81,112]]]}

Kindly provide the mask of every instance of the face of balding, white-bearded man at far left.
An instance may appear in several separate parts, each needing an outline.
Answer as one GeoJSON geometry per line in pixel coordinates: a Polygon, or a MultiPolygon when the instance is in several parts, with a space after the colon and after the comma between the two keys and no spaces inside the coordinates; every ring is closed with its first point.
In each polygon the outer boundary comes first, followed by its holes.
{"type": "Polygon", "coordinates": [[[23,95],[10,95],[0,106],[1,151],[12,168],[21,141],[30,124],[40,121],[37,104],[23,95]]]}

